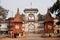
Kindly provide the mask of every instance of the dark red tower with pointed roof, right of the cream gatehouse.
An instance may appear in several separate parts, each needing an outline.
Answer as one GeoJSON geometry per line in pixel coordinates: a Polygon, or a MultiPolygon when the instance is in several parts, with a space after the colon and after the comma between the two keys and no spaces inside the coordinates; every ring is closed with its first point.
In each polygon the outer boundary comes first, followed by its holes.
{"type": "Polygon", "coordinates": [[[48,9],[47,14],[45,15],[45,32],[53,33],[54,32],[53,27],[54,27],[53,18],[50,14],[50,10],[48,9]]]}

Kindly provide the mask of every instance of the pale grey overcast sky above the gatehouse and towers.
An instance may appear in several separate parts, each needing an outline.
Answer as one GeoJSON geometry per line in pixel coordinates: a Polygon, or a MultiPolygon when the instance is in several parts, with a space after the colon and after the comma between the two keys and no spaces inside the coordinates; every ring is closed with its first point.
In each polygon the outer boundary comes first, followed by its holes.
{"type": "Polygon", "coordinates": [[[47,8],[51,7],[55,2],[56,0],[1,0],[0,5],[8,9],[8,17],[12,17],[15,15],[17,8],[20,9],[20,13],[23,13],[25,8],[32,7],[38,8],[41,14],[46,14],[47,8]]]}

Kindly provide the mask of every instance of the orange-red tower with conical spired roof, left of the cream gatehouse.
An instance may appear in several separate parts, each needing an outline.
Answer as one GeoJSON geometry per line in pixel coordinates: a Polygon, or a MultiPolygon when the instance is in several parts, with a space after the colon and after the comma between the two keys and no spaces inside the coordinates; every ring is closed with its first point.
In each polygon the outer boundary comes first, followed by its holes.
{"type": "Polygon", "coordinates": [[[22,31],[22,16],[19,13],[19,9],[17,9],[17,13],[14,17],[14,27],[15,27],[15,32],[19,33],[22,31]]]}

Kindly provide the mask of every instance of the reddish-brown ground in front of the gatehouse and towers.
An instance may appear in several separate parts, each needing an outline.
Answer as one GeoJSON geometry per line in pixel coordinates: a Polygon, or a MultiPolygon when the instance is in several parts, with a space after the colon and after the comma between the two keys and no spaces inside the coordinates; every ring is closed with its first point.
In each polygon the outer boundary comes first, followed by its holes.
{"type": "Polygon", "coordinates": [[[26,34],[26,36],[24,38],[0,38],[0,40],[60,40],[60,38],[51,38],[51,37],[47,37],[47,38],[42,38],[40,37],[40,34],[33,34],[33,33],[29,33],[26,34]]]}

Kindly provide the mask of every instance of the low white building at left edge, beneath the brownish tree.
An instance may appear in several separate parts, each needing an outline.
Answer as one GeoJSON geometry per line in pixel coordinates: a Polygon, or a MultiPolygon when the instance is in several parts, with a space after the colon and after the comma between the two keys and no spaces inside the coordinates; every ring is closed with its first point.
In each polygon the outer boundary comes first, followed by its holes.
{"type": "Polygon", "coordinates": [[[0,20],[0,34],[8,34],[8,23],[0,20]]]}

